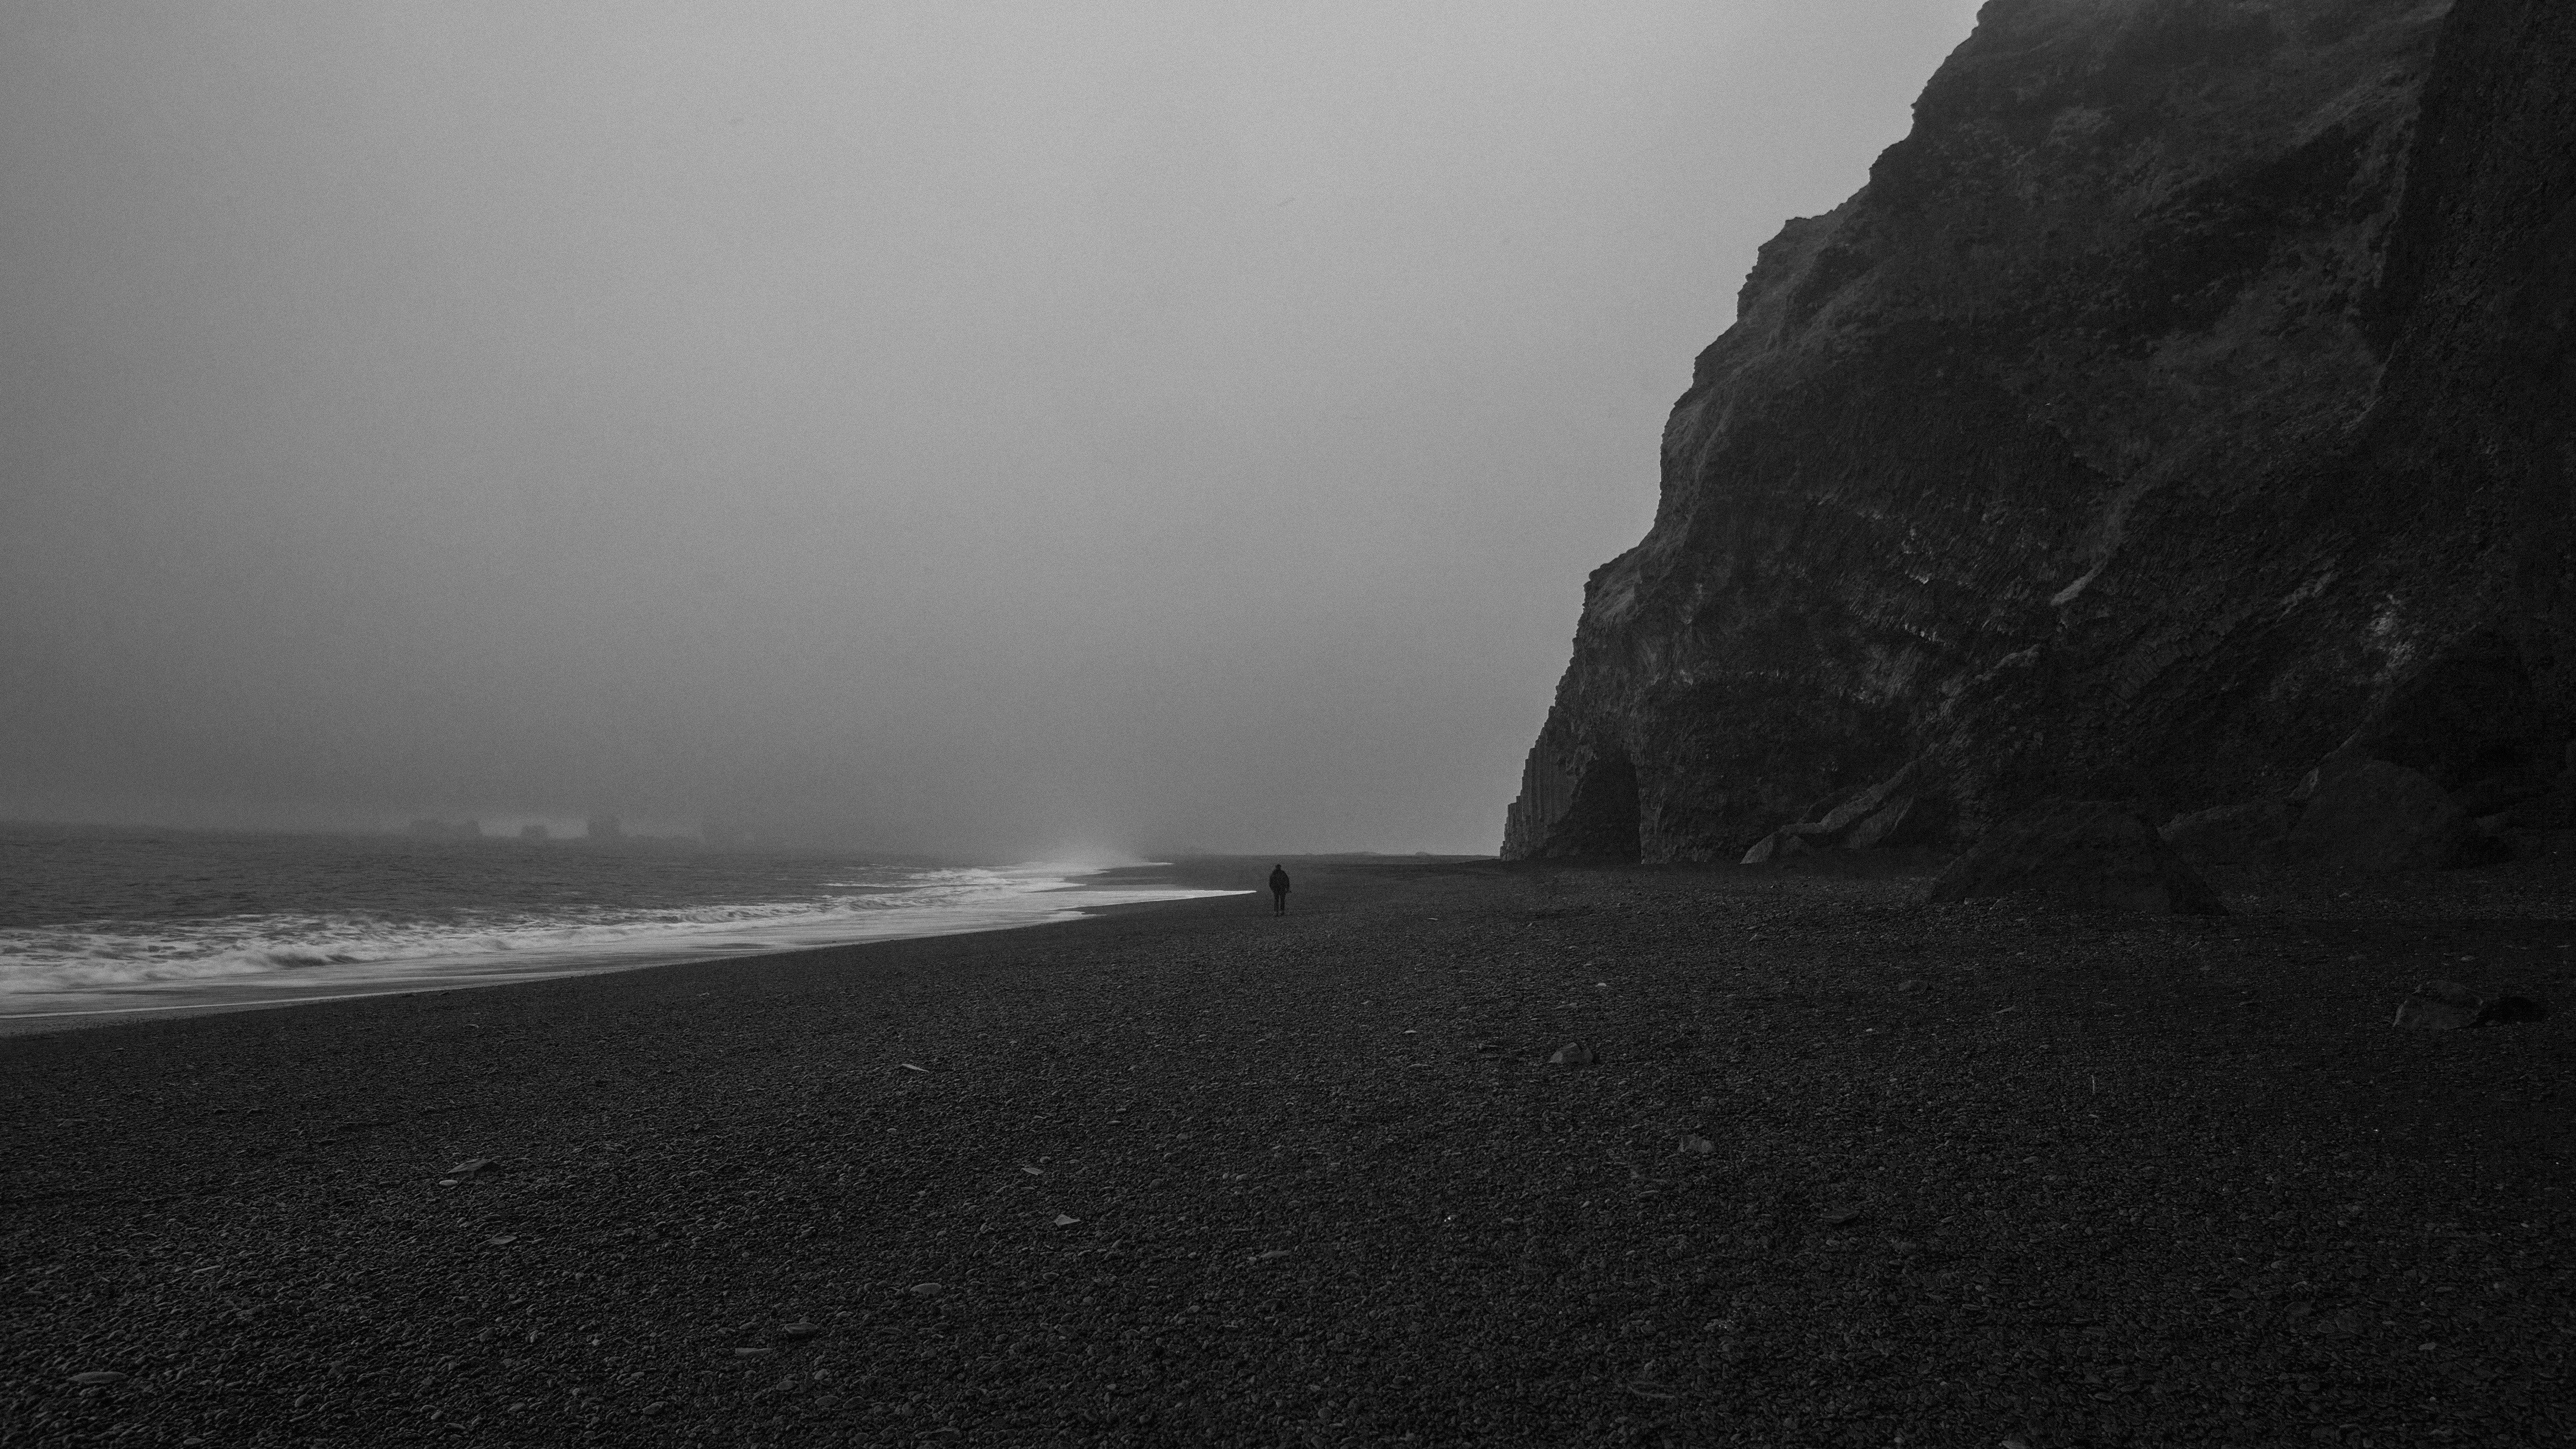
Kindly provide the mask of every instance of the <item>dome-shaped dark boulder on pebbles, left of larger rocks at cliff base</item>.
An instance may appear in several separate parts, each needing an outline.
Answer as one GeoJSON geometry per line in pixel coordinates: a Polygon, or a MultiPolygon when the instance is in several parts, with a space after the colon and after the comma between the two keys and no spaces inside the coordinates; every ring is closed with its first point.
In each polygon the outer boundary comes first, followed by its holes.
{"type": "Polygon", "coordinates": [[[2043,896],[2066,906],[2223,916],[2226,906],[2156,826],[2115,800],[2040,800],[1950,862],[1929,903],[2043,896]]]}

